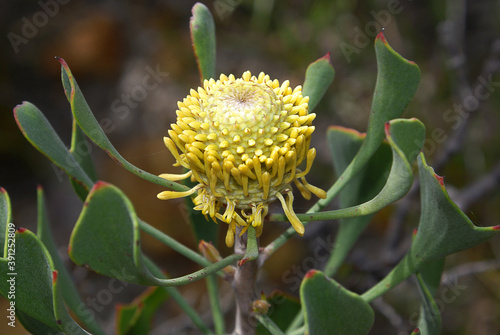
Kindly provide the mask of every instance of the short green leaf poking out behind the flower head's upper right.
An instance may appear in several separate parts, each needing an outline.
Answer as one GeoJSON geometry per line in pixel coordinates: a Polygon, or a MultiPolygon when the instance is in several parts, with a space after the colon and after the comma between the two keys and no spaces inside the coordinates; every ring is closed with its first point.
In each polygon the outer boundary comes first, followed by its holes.
{"type": "Polygon", "coordinates": [[[309,112],[318,105],[335,77],[330,53],[312,62],[306,70],[303,95],[309,97],[309,112]]]}

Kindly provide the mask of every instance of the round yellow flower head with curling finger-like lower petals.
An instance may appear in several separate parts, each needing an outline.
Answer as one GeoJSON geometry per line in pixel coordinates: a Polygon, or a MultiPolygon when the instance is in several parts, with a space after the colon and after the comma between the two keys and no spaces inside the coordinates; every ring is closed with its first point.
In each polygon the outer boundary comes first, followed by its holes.
{"type": "Polygon", "coordinates": [[[195,209],[229,225],[228,246],[234,243],[237,225],[244,233],[251,224],[259,236],[268,205],[276,199],[303,235],[304,226],[292,208],[291,183],[306,199],[311,192],[326,196],[304,178],[316,156],[309,149],[316,117],[308,113],[309,97],[302,96],[301,86],[292,90],[288,80],[280,85],[264,73],[255,77],[249,71],[238,79],[221,75],[217,81],[205,80],[203,86],[178,102],[177,122],[164,138],[177,160],[174,165],[189,172],[160,175],[171,181],[191,177],[199,184],[187,192],[161,192],[158,198],[197,192],[195,209]],[[298,166],[304,160],[302,171],[298,166]]]}

